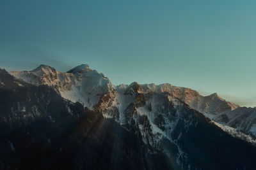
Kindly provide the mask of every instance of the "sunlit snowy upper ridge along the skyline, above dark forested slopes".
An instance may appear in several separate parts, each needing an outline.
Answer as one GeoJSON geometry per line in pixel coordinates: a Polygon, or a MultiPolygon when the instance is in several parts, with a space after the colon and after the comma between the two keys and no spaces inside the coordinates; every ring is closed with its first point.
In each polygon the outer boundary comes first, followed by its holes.
{"type": "Polygon", "coordinates": [[[196,90],[173,86],[170,83],[156,85],[154,83],[138,84],[134,81],[130,85],[113,85],[104,74],[91,69],[88,64],[81,64],[70,69],[67,73],[56,71],[50,66],[41,65],[33,71],[13,71],[10,74],[34,85],[52,86],[65,99],[72,102],[78,101],[90,109],[108,111],[115,108],[113,113],[119,115],[119,117],[122,117],[124,114],[122,112],[127,108],[127,103],[131,103],[135,99],[134,97],[127,96],[147,93],[168,93],[170,96],[184,101],[191,108],[203,113],[205,117],[256,137],[256,130],[254,130],[256,126],[254,118],[256,117],[253,117],[253,121],[250,122],[249,127],[251,129],[244,125],[242,123],[243,120],[241,120],[241,117],[248,115],[249,108],[245,109],[248,111],[244,111],[243,116],[233,120],[233,122],[238,123],[223,123],[223,118],[227,120],[228,117],[228,120],[232,120],[233,115],[235,115],[232,113],[235,113],[234,110],[239,108],[239,106],[225,101],[217,93],[201,96],[196,90]],[[219,117],[218,115],[221,116],[219,117]]]}

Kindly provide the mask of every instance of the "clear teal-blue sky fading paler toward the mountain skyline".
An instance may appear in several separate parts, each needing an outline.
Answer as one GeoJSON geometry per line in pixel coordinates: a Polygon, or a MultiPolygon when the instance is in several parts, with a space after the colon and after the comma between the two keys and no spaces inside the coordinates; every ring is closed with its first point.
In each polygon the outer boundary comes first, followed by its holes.
{"type": "Polygon", "coordinates": [[[256,1],[0,1],[0,67],[89,64],[256,106],[256,1]]]}

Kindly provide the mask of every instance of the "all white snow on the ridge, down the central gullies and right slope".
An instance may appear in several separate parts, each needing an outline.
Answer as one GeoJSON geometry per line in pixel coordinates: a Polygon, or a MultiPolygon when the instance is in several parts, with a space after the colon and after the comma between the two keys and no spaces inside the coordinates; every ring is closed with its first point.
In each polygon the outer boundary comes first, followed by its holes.
{"type": "MultiPolygon", "coordinates": [[[[145,105],[135,108],[132,118],[139,125],[141,136],[145,143],[149,141],[150,145],[157,146],[165,138],[177,146],[177,164],[181,164],[180,160],[186,158],[186,153],[182,150],[182,146],[179,145],[179,139],[183,135],[182,133],[188,132],[190,127],[196,127],[197,125],[197,122],[193,122],[191,117],[188,117],[186,120],[183,120],[185,123],[184,131],[180,131],[175,138],[172,136],[173,130],[175,127],[178,127],[179,120],[183,118],[184,104],[182,101],[188,104],[190,108],[210,118],[223,131],[228,132],[236,138],[256,143],[255,139],[251,136],[237,130],[240,129],[250,132],[256,136],[256,108],[240,108],[236,104],[221,99],[216,93],[210,96],[201,96],[195,90],[175,87],[169,83],[161,85],[155,85],[153,83],[138,85],[138,83],[134,82],[131,85],[121,84],[114,86],[104,74],[90,69],[88,64],[74,67],[70,71],[67,71],[67,73],[61,73],[52,67],[42,65],[33,71],[13,71],[10,74],[34,85],[49,85],[54,87],[63,98],[74,103],[80,102],[90,109],[94,109],[95,104],[98,104],[103,96],[107,99],[110,98],[110,104],[108,101],[104,101],[105,103],[100,105],[106,109],[106,111],[103,111],[104,117],[115,118],[116,122],[123,125],[125,129],[127,129],[125,127],[125,124],[127,124],[127,115],[125,113],[127,112],[125,111],[127,111],[127,107],[131,103],[134,103],[136,94],[152,94],[151,97],[147,98],[145,105]],[[170,110],[170,105],[165,104],[166,101],[172,103],[177,111],[174,117],[172,117],[173,114],[172,110],[170,110]],[[114,114],[111,115],[111,113],[118,114],[118,118],[114,114]],[[152,139],[147,139],[148,132],[145,131],[143,124],[138,123],[138,118],[142,115],[146,115],[148,119],[150,131],[153,134],[152,139]],[[159,124],[156,121],[159,116],[164,120],[164,124],[159,124]]],[[[19,110],[26,111],[26,108],[22,106],[19,108],[19,110]]],[[[38,112],[36,107],[33,108],[33,112],[35,114],[38,112]]],[[[70,109],[69,113],[72,115],[70,109]]],[[[55,122],[52,117],[49,117],[49,120],[55,122]]],[[[49,139],[49,142],[51,143],[51,139],[49,139]]]]}

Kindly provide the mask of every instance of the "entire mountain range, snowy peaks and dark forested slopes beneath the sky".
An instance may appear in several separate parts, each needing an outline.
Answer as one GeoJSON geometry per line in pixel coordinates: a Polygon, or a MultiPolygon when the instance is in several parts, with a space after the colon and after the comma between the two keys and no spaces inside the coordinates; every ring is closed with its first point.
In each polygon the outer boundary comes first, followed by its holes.
{"type": "Polygon", "coordinates": [[[87,64],[0,69],[0,136],[0,169],[256,169],[256,108],[87,64]]]}

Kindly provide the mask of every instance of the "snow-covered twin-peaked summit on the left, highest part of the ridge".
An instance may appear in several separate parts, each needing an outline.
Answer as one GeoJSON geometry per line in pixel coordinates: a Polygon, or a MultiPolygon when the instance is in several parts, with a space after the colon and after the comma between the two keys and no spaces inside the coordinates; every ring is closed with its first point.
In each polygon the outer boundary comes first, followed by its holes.
{"type": "Polygon", "coordinates": [[[34,85],[52,86],[63,98],[72,102],[78,101],[91,109],[99,102],[102,94],[113,89],[108,78],[90,69],[88,64],[74,67],[68,73],[41,65],[33,71],[13,71],[10,74],[34,85]]]}

